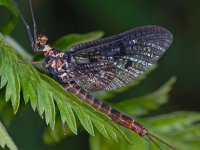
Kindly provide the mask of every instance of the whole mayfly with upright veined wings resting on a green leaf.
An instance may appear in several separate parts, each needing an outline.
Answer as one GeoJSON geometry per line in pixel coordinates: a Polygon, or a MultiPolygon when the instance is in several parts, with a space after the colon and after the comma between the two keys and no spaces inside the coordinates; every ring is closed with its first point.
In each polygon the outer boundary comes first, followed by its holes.
{"type": "Polygon", "coordinates": [[[32,49],[44,53],[45,69],[49,74],[68,92],[105,113],[115,123],[142,137],[148,137],[159,149],[160,146],[154,140],[175,150],[134,119],[90,94],[100,90],[116,90],[137,79],[169,48],[173,41],[172,34],[163,27],[143,26],[104,39],[77,44],[61,52],[48,44],[46,35],[37,34],[32,4],[29,2],[33,30],[18,11],[26,26],[32,49]]]}

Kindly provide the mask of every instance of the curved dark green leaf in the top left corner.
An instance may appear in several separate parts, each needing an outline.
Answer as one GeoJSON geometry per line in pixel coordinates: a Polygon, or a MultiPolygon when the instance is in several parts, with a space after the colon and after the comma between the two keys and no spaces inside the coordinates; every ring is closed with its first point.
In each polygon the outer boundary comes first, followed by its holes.
{"type": "Polygon", "coordinates": [[[12,3],[12,0],[0,0],[0,6],[7,8],[12,13],[12,16],[10,16],[8,23],[2,29],[2,33],[7,35],[10,34],[17,23],[18,12],[16,7],[12,3]]]}

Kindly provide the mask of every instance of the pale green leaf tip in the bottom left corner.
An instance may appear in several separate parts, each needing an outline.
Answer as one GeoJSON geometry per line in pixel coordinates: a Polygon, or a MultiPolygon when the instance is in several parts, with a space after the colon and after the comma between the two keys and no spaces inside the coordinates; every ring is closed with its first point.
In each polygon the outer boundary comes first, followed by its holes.
{"type": "Polygon", "coordinates": [[[11,137],[8,135],[8,132],[6,131],[6,128],[3,126],[3,124],[0,122],[0,145],[2,148],[7,145],[7,147],[10,150],[17,150],[17,146],[11,139],[11,137]]]}

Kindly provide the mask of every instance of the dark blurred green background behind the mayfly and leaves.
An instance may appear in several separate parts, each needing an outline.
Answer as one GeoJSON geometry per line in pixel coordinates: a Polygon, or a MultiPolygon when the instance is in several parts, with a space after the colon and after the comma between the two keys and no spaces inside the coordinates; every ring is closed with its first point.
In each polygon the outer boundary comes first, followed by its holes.
{"type": "MultiPolygon", "coordinates": [[[[31,22],[28,1],[18,3],[31,22]]],[[[51,43],[62,35],[95,30],[104,31],[105,36],[142,25],[160,25],[170,30],[174,36],[172,46],[159,60],[159,67],[133,91],[135,96],[153,91],[175,75],[178,80],[170,102],[161,107],[161,112],[200,109],[199,6],[197,0],[33,0],[38,32],[47,34],[51,43]]],[[[1,17],[9,17],[6,9],[0,12],[1,17]]],[[[21,21],[12,36],[33,53],[21,21]]],[[[79,136],[45,146],[45,126],[38,114],[26,107],[17,114],[9,131],[20,149],[89,149],[88,135],[82,130],[79,136]]]]}

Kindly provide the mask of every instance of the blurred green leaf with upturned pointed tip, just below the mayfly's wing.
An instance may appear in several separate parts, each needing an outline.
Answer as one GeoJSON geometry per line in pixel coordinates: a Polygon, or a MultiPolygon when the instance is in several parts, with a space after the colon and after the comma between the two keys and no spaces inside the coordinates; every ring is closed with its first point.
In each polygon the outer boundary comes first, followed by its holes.
{"type": "Polygon", "coordinates": [[[175,81],[176,78],[172,77],[157,91],[142,97],[131,98],[129,100],[125,99],[121,102],[114,103],[114,106],[132,116],[147,114],[150,110],[158,109],[160,105],[165,104],[168,101],[169,92],[175,81]]]}

